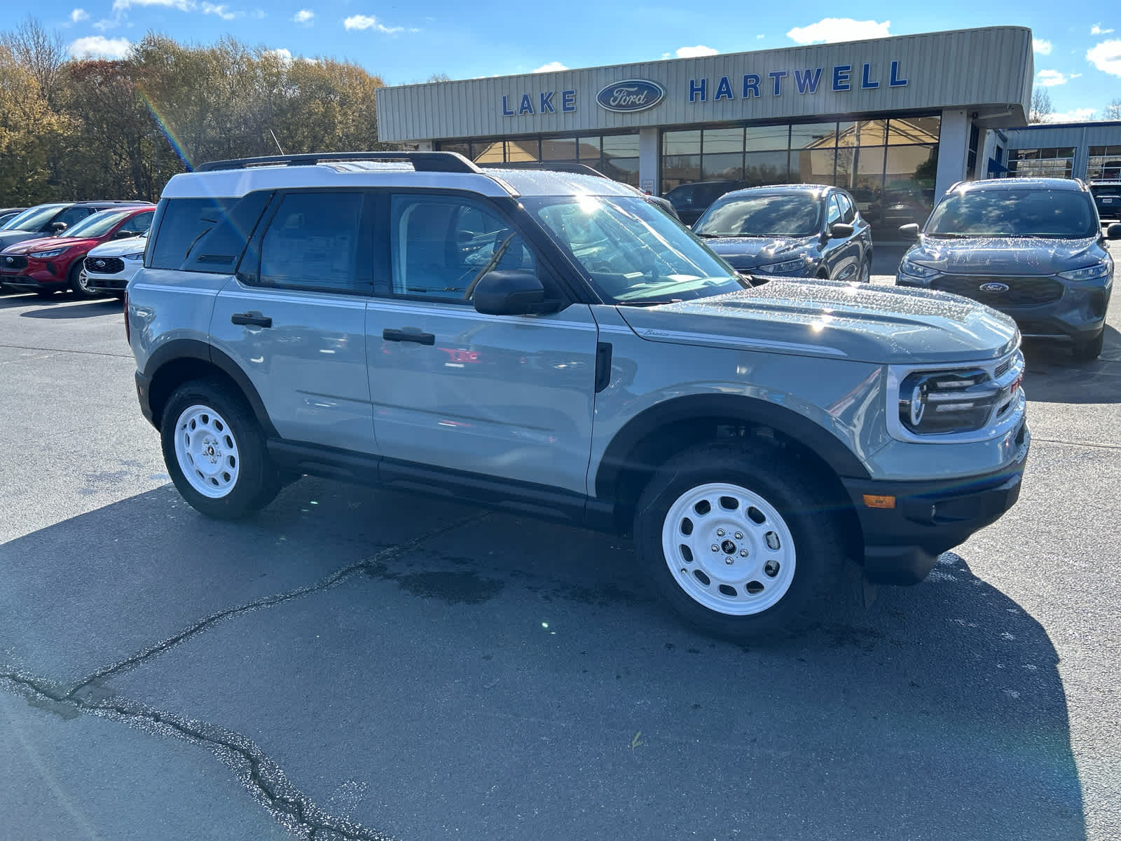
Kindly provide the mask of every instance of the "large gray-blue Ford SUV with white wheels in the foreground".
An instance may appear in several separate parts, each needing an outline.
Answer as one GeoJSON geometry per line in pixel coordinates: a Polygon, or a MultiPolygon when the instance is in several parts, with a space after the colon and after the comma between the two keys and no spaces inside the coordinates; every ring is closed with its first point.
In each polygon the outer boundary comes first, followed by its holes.
{"type": "Polygon", "coordinates": [[[126,313],[203,514],[316,474],[631,533],[668,602],[733,638],[810,620],[850,558],[920,581],[1028,454],[1010,318],[752,288],[631,187],[452,153],[176,175],[126,313]]]}

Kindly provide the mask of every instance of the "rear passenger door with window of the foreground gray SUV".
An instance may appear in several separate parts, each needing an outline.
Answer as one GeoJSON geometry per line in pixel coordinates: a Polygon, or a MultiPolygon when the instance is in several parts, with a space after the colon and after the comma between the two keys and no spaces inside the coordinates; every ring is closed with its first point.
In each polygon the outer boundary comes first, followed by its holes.
{"type": "Polygon", "coordinates": [[[286,440],[377,452],[370,207],[364,191],[278,193],[214,303],[212,342],[249,376],[286,440]]]}

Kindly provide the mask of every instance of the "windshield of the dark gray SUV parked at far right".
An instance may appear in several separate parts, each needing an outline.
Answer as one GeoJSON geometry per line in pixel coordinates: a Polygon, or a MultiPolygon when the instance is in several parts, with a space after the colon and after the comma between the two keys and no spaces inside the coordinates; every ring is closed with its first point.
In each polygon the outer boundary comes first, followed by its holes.
{"type": "Polygon", "coordinates": [[[1094,206],[1081,191],[1048,187],[967,190],[934,209],[930,237],[1094,237],[1094,206]]]}

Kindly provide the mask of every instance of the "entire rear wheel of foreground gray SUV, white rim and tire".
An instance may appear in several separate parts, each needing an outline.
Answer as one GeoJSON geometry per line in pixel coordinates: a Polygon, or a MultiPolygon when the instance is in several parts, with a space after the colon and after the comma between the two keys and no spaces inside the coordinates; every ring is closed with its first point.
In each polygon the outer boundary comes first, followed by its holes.
{"type": "Polygon", "coordinates": [[[179,386],[164,409],[160,443],[175,487],[207,517],[239,519],[280,490],[260,424],[242,396],[224,383],[179,386]]]}

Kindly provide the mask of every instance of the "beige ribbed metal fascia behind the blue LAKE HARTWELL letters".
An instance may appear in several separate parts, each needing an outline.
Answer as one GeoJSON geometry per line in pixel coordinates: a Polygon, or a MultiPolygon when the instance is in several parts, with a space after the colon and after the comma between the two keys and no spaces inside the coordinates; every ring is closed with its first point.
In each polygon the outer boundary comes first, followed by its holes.
{"type": "Polygon", "coordinates": [[[785,120],[889,111],[941,111],[944,108],[995,105],[1010,108],[1015,123],[1031,90],[1031,31],[1021,27],[991,27],[952,33],[893,36],[845,44],[816,44],[754,53],[735,53],[610,67],[527,74],[498,78],[437,82],[383,87],[378,91],[381,139],[389,141],[574,133],[638,129],[693,122],[785,120]],[[890,62],[900,62],[909,84],[888,87],[890,62]],[[861,90],[861,65],[873,65],[880,87],[861,90]],[[851,64],[854,90],[832,91],[833,67],[851,64]],[[794,70],[822,67],[816,93],[798,94],[794,70]],[[782,94],[768,93],[770,71],[788,72],[782,94]],[[761,76],[760,98],[741,99],[745,73],[761,76]],[[721,76],[732,83],[735,99],[712,100],[721,76]],[[655,108],[615,113],[600,108],[595,94],[623,78],[650,78],[666,89],[655,108]],[[707,102],[688,102],[691,78],[707,78],[707,102]],[[560,92],[577,91],[577,110],[562,111],[560,92]],[[517,111],[522,93],[534,109],[539,93],[556,91],[554,114],[502,117],[502,95],[517,111]]]}

